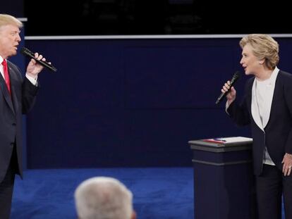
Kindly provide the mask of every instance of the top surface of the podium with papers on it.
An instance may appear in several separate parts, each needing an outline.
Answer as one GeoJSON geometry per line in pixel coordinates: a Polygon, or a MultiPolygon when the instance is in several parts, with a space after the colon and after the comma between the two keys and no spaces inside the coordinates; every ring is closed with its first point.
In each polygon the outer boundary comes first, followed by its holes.
{"type": "Polygon", "coordinates": [[[253,139],[248,137],[220,137],[189,141],[190,149],[210,152],[245,151],[251,149],[253,139]]]}

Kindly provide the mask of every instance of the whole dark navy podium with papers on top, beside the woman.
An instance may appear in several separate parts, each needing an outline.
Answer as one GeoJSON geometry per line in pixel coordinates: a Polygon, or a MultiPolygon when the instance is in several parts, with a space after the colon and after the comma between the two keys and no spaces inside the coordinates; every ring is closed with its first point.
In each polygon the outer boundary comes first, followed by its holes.
{"type": "Polygon", "coordinates": [[[255,219],[253,139],[188,143],[193,151],[195,219],[255,219]]]}

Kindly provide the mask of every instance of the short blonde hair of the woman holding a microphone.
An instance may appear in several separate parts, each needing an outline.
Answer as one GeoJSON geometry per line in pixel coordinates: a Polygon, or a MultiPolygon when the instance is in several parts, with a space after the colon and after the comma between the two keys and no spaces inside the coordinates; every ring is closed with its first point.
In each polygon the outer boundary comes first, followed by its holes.
{"type": "Polygon", "coordinates": [[[241,49],[246,44],[253,48],[253,54],[264,63],[269,69],[274,69],[279,63],[279,44],[269,35],[253,34],[247,35],[239,42],[241,49]]]}

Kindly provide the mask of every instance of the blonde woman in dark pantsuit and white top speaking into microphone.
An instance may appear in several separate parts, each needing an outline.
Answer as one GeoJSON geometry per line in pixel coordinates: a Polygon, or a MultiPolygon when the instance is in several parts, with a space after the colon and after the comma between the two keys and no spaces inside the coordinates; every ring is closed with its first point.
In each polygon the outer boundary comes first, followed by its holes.
{"type": "Polygon", "coordinates": [[[282,194],[286,218],[292,218],[292,75],[276,68],[279,45],[272,37],[247,35],[240,45],[245,75],[254,77],[241,104],[226,82],[226,111],[236,124],[251,125],[259,218],[281,219],[282,194]]]}

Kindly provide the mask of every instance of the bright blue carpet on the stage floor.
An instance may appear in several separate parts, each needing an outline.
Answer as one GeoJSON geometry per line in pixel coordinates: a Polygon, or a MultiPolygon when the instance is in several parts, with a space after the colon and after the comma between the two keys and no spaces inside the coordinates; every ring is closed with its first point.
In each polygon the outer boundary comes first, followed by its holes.
{"type": "Polygon", "coordinates": [[[16,177],[12,219],[77,218],[73,193],[90,177],[121,180],[134,194],[138,218],[192,219],[192,168],[98,168],[26,170],[16,177]]]}

